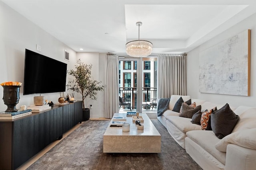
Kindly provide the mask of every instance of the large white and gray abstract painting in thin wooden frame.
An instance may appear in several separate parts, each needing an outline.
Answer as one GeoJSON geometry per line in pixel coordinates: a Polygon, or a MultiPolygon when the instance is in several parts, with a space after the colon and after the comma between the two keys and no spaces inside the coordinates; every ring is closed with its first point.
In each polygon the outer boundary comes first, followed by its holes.
{"type": "Polygon", "coordinates": [[[250,96],[250,29],[200,52],[199,92],[250,96]]]}

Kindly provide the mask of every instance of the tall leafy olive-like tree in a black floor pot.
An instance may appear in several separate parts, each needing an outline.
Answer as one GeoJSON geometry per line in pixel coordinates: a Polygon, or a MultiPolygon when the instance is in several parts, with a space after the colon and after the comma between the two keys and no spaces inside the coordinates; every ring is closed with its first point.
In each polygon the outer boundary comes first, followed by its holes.
{"type": "Polygon", "coordinates": [[[85,108],[84,100],[89,97],[92,100],[96,100],[96,94],[98,91],[103,91],[105,86],[100,85],[101,81],[92,80],[91,69],[92,64],[84,64],[80,59],[76,62],[75,69],[68,71],[70,76],[74,77],[74,80],[68,81],[68,90],[78,92],[82,94],[83,102],[83,121],[90,119],[90,109],[85,108]],[[87,114],[87,115],[86,115],[87,114]],[[89,115],[88,115],[89,114],[89,115]],[[86,115],[86,118],[84,117],[86,115]]]}

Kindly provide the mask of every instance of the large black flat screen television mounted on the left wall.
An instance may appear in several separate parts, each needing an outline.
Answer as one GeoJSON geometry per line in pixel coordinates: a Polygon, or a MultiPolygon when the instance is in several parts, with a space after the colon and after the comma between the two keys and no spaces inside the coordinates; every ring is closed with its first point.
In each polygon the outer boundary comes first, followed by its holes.
{"type": "Polygon", "coordinates": [[[67,64],[25,50],[23,94],[66,91],[67,64]]]}

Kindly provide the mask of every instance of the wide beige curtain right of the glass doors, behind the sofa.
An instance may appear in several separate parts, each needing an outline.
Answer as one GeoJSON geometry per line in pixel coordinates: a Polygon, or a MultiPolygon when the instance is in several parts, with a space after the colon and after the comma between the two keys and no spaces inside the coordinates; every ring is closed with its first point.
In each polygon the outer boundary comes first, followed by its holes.
{"type": "Polygon", "coordinates": [[[158,98],[170,98],[172,94],[186,95],[187,55],[158,55],[158,98]]]}

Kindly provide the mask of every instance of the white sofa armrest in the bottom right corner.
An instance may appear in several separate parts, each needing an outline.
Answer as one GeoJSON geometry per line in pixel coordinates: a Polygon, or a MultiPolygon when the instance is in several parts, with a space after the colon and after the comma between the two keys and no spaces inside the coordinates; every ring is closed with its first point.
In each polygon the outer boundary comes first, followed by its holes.
{"type": "Polygon", "coordinates": [[[229,144],[225,170],[253,170],[256,167],[256,150],[229,144]]]}

